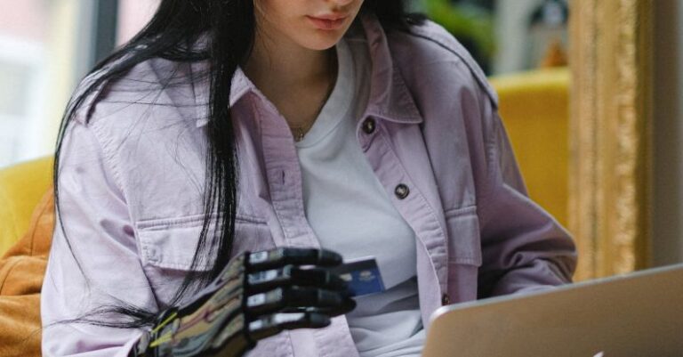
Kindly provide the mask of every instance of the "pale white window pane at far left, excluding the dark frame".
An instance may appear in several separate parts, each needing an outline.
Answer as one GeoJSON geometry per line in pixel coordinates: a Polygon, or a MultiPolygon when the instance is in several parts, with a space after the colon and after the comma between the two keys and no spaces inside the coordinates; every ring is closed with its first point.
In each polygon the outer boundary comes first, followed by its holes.
{"type": "Polygon", "coordinates": [[[47,116],[52,6],[0,0],[0,166],[40,155],[47,116]]]}

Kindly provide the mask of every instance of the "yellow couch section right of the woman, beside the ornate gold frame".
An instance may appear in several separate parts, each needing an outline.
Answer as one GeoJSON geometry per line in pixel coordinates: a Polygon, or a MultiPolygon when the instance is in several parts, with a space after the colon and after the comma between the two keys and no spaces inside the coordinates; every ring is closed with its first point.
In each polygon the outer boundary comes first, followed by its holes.
{"type": "Polygon", "coordinates": [[[565,68],[491,78],[529,195],[565,227],[570,78],[565,68]]]}

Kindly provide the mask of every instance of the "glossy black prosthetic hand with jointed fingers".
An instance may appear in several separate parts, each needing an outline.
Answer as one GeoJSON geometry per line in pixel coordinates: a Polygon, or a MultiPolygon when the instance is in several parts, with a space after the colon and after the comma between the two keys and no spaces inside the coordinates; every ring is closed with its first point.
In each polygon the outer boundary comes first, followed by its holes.
{"type": "Polygon", "coordinates": [[[356,303],[346,283],[327,272],[336,253],[280,248],[235,258],[212,284],[163,312],[130,356],[238,357],[285,329],[317,329],[356,303]]]}

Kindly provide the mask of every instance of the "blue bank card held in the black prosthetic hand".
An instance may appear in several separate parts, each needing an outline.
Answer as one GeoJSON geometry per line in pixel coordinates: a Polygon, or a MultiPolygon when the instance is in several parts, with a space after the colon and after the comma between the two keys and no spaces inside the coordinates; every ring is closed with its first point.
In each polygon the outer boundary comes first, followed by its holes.
{"type": "Polygon", "coordinates": [[[366,296],[385,290],[380,268],[374,257],[365,257],[345,262],[330,269],[349,284],[351,296],[366,296]]]}

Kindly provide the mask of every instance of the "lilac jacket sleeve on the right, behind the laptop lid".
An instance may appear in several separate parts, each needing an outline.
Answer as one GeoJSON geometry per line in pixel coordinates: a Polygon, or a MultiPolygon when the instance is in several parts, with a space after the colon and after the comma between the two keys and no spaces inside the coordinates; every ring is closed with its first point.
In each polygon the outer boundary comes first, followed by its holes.
{"type": "Polygon", "coordinates": [[[478,188],[483,256],[478,296],[570,283],[576,266],[574,241],[528,198],[501,118],[492,101],[483,102],[486,168],[478,188]]]}

